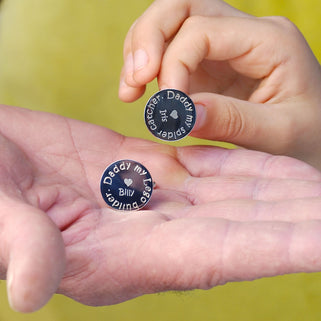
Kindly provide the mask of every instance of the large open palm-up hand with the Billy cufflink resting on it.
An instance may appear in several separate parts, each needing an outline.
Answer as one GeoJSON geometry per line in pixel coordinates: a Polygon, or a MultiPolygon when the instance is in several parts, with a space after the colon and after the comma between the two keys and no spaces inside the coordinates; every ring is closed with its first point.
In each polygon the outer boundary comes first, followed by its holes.
{"type": "Polygon", "coordinates": [[[321,270],[321,173],[249,150],[170,147],[0,107],[0,276],[31,312],[60,293],[110,305],[146,293],[321,270]],[[99,190],[130,158],[156,181],[144,210],[99,190]]]}

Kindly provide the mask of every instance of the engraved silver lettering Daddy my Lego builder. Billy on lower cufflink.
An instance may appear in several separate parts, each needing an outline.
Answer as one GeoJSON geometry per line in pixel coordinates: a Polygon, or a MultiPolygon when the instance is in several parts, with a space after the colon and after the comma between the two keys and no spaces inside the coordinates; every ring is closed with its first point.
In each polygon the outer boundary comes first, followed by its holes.
{"type": "MultiPolygon", "coordinates": [[[[116,176],[116,174],[120,173],[121,171],[129,171],[130,168],[132,167],[132,163],[130,162],[122,162],[120,164],[116,164],[108,173],[107,176],[103,180],[103,184],[105,185],[112,185],[113,183],[113,178],[116,176]]],[[[133,169],[134,172],[138,173],[140,176],[144,176],[147,174],[147,172],[140,167],[139,165],[136,165],[133,169]]],[[[126,179],[125,179],[126,181],[126,179]]],[[[145,204],[150,196],[151,196],[151,191],[152,191],[152,179],[147,178],[143,180],[144,183],[144,191],[142,193],[142,196],[140,197],[140,202],[141,204],[145,204]]],[[[125,182],[126,185],[128,185],[125,182]]],[[[135,190],[132,189],[127,189],[127,188],[119,188],[118,189],[118,195],[119,196],[129,196],[133,197],[135,193],[135,190]]],[[[110,189],[106,193],[106,197],[108,202],[111,204],[113,208],[117,208],[119,210],[132,210],[132,209],[139,209],[139,204],[137,201],[131,202],[131,203],[123,203],[117,200],[114,195],[111,193],[110,189]]]]}

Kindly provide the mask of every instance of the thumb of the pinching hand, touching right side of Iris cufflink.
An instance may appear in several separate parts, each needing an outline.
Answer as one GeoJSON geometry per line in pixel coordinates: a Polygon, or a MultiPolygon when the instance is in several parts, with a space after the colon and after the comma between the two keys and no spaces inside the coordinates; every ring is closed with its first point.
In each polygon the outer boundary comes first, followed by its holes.
{"type": "Polygon", "coordinates": [[[276,111],[276,105],[211,93],[193,94],[191,98],[197,114],[191,136],[271,153],[278,153],[288,143],[289,117],[276,111]]]}

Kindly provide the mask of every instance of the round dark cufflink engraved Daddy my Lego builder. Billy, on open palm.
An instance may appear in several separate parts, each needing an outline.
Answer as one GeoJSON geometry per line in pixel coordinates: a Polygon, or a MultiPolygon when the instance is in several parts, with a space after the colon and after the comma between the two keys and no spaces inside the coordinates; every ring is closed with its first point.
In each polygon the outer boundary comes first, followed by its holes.
{"type": "Polygon", "coordinates": [[[110,164],[100,182],[104,201],[119,211],[142,209],[149,202],[153,188],[154,182],[147,168],[129,159],[110,164]]]}

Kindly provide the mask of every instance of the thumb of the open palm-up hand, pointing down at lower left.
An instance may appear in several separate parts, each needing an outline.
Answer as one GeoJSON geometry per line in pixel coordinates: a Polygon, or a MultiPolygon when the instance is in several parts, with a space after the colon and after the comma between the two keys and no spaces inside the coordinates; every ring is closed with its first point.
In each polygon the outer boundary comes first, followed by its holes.
{"type": "Polygon", "coordinates": [[[56,292],[65,268],[60,231],[48,216],[29,205],[2,200],[1,261],[7,268],[11,307],[41,308],[56,292]]]}

